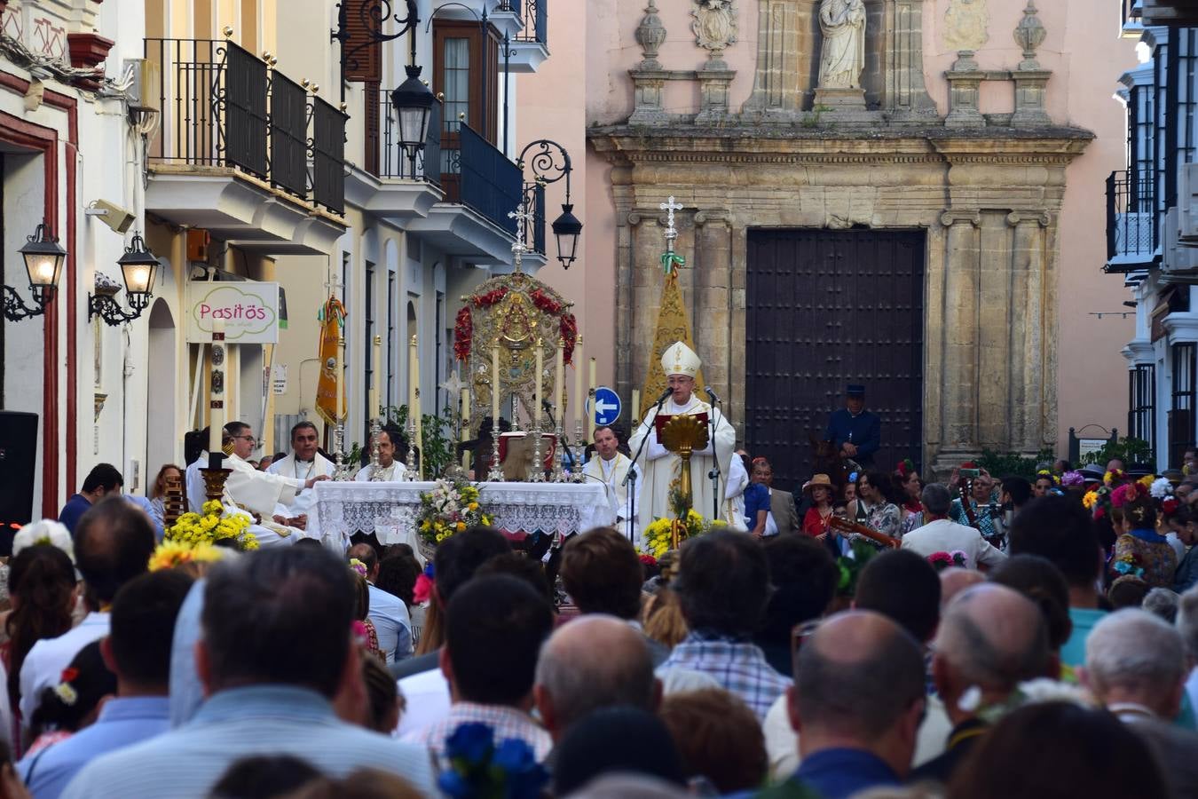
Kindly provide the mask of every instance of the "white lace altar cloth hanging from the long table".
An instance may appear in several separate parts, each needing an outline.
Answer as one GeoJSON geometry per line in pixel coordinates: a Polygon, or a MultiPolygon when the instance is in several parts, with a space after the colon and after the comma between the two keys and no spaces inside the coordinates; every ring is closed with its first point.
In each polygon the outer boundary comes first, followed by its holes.
{"type": "MultiPolygon", "coordinates": [[[[316,513],[323,535],[347,539],[374,531],[385,545],[412,544],[420,494],[435,483],[316,483],[316,513]]],[[[495,526],[510,533],[569,535],[615,523],[606,486],[599,483],[476,483],[495,526]]]]}

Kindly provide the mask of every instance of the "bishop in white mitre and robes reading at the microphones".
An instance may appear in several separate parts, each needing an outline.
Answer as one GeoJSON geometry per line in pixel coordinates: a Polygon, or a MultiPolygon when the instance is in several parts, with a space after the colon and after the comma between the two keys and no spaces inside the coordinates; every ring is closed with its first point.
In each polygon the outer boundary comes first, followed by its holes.
{"type": "Polygon", "coordinates": [[[666,382],[670,386],[670,397],[660,406],[653,406],[645,416],[636,432],[629,440],[628,446],[635,453],[646,438],[645,452],[637,460],[643,474],[640,496],[637,498],[636,515],[642,525],[648,525],[654,519],[672,516],[670,510],[670,484],[682,473],[682,458],[667,450],[658,441],[657,425],[654,423],[658,413],[664,416],[676,416],[686,413],[697,416],[706,413],[710,420],[710,436],[707,447],[696,449],[690,456],[690,485],[692,492],[691,507],[704,519],[710,519],[712,480],[707,477],[712,467],[720,465],[720,485],[715,496],[724,500],[724,484],[728,477],[728,464],[732,460],[736,447],[737,434],[732,429],[732,423],[724,418],[719,410],[695,397],[695,375],[702,362],[695,351],[682,341],[674,341],[666,347],[661,356],[661,369],[666,374],[666,382]]]}

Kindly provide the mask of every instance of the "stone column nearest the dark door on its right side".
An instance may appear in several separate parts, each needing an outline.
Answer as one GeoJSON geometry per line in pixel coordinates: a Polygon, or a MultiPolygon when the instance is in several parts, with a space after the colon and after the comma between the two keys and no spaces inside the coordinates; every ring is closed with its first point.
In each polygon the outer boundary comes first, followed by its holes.
{"type": "Polygon", "coordinates": [[[978,211],[940,214],[944,259],[944,367],[940,379],[940,460],[978,450],[978,211]]]}

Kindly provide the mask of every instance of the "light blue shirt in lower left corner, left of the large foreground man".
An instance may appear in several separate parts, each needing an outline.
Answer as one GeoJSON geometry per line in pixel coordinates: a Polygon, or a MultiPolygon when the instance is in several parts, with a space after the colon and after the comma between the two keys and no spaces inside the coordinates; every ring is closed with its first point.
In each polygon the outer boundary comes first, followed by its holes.
{"type": "Polygon", "coordinates": [[[17,763],[17,773],[37,799],[58,799],[71,779],[92,759],[153,738],[170,728],[165,696],[113,698],[96,724],[17,763]]]}

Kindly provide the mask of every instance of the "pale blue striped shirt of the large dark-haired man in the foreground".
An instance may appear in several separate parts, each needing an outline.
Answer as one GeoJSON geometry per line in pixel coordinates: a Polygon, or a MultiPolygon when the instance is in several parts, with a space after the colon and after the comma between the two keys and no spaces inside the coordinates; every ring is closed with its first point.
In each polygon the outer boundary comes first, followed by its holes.
{"type": "Polygon", "coordinates": [[[179,730],[92,761],[62,795],[200,799],[232,763],[279,753],[307,761],[333,779],[359,768],[397,774],[422,795],[436,795],[428,749],[346,724],[320,694],[283,684],[213,694],[179,730]]]}

